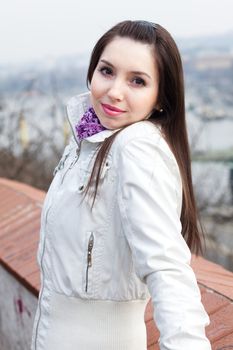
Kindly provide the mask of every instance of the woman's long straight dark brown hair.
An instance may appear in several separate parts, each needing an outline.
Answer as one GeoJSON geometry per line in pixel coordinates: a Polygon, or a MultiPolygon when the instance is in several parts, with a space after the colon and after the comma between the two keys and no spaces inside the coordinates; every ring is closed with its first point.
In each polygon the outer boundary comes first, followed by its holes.
{"type": "MultiPolygon", "coordinates": [[[[108,30],[96,43],[90,58],[87,72],[87,85],[91,83],[94,70],[105,47],[115,37],[127,37],[152,45],[159,71],[158,105],[163,112],[154,110],[148,119],[159,124],[178,163],[183,185],[183,201],[181,211],[182,235],[192,252],[202,253],[201,225],[198,228],[197,208],[193,193],[191,161],[185,121],[183,68],[177,45],[166,29],[159,24],[147,21],[123,21],[108,30]]],[[[122,130],[122,129],[121,129],[122,130]]],[[[94,185],[96,198],[100,172],[107,153],[121,131],[105,139],[98,149],[92,173],[86,188],[94,185]],[[94,180],[95,179],[95,180],[94,180]]]]}

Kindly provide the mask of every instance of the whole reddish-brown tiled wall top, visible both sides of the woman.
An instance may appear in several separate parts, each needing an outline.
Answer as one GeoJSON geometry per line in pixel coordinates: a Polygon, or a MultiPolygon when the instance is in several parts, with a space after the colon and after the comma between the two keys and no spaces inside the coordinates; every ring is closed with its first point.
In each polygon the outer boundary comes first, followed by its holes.
{"type": "MultiPolygon", "coordinates": [[[[43,191],[0,178],[0,263],[36,296],[40,287],[36,251],[44,197],[43,191]]],[[[212,349],[233,349],[233,273],[201,257],[193,257],[192,266],[211,320],[206,332],[212,349]]],[[[151,302],[145,322],[148,350],[158,350],[151,302]]]]}

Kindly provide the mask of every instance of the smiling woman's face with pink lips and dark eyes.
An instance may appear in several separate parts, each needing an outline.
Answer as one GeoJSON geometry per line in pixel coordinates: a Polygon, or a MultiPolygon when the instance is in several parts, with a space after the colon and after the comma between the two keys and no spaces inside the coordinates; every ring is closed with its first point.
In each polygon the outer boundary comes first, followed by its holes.
{"type": "Polygon", "coordinates": [[[157,107],[158,70],[153,47],[114,38],[104,49],[91,80],[91,102],[107,129],[145,119],[157,107]]]}

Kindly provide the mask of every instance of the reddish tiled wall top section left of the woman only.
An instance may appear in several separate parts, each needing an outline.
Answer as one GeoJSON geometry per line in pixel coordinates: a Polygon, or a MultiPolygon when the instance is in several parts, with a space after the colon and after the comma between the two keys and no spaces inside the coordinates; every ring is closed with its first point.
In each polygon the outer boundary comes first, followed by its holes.
{"type": "Polygon", "coordinates": [[[45,193],[0,178],[0,263],[38,295],[36,262],[41,206],[45,193]]]}

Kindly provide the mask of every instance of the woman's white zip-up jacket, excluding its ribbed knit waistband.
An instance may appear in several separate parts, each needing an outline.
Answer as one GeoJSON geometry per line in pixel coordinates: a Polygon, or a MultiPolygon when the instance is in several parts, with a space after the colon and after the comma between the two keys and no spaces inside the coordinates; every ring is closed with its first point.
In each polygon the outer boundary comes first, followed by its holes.
{"type": "Polygon", "coordinates": [[[159,128],[149,121],[128,126],[110,149],[91,211],[91,200],[82,197],[95,152],[115,131],[101,131],[80,143],[75,124],[89,105],[89,93],[68,103],[74,135],[42,211],[42,286],[32,349],[48,349],[43,344],[52,322],[54,291],[82,300],[141,300],[145,305],[151,297],[161,350],[209,350],[209,318],[181,235],[182,185],[176,160],[159,128]]]}

